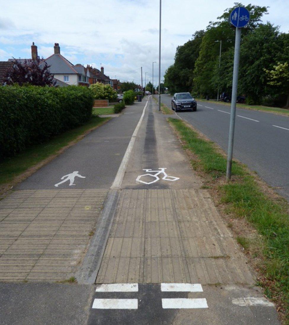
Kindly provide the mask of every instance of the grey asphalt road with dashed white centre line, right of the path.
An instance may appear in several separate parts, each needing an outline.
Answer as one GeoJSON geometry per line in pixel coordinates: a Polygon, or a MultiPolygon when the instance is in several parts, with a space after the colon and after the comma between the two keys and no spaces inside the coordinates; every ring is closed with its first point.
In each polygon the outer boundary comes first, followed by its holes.
{"type": "MultiPolygon", "coordinates": [[[[161,101],[171,107],[171,96],[161,101]]],[[[198,102],[197,111],[177,113],[227,152],[230,107],[198,102]]],[[[289,200],[289,118],[262,111],[236,110],[234,158],[256,171],[289,200]]]]}

